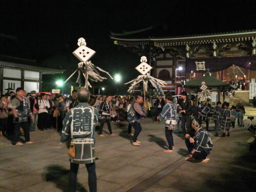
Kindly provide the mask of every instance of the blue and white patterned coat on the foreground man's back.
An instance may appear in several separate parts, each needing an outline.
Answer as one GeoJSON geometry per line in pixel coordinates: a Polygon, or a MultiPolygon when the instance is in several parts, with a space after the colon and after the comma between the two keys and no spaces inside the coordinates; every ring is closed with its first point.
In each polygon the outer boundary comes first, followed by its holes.
{"type": "Polygon", "coordinates": [[[95,162],[95,126],[98,110],[88,103],[79,103],[72,108],[63,120],[60,142],[71,140],[75,143],[76,157],[70,162],[89,164],[95,162]]]}

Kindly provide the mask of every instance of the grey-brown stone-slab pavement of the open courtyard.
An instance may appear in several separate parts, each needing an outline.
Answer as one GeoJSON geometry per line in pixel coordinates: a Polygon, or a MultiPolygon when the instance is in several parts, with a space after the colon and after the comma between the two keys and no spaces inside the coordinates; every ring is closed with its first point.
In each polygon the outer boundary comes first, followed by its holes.
{"type": "MultiPolygon", "coordinates": [[[[126,122],[112,123],[117,137],[96,137],[98,191],[254,191],[255,153],[248,152],[246,143],[252,133],[244,127],[232,129],[229,138],[212,136],[210,161],[191,163],[184,160],[186,146],[178,131],[175,151],[166,154],[164,124],[148,118],[141,123],[140,147],[131,145],[126,122]]],[[[59,143],[55,130],[50,132],[56,138],[0,148],[1,192],[67,191],[67,146],[59,143]]],[[[86,167],[80,165],[77,191],[89,191],[87,178],[86,167]]]]}

